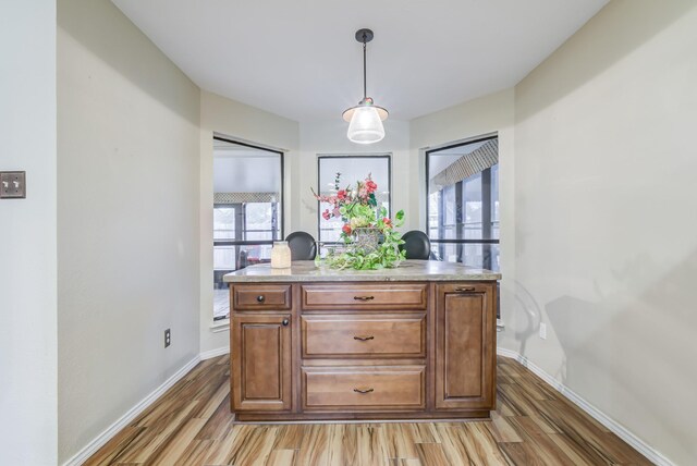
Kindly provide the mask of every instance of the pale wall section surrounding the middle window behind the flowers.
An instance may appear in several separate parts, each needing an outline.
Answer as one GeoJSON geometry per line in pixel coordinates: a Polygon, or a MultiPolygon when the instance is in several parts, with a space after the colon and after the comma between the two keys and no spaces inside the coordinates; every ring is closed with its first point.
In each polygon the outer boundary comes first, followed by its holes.
{"type": "MultiPolygon", "coordinates": [[[[352,143],[346,137],[348,123],[337,115],[331,121],[301,123],[301,155],[294,159],[291,213],[291,231],[306,231],[317,237],[317,200],[310,187],[317,189],[317,156],[318,155],[392,155],[392,214],[404,209],[405,223],[403,231],[416,224],[416,217],[412,214],[412,197],[416,196],[412,189],[413,179],[409,172],[409,124],[399,120],[384,122],[384,138],[369,146],[352,143]]],[[[365,173],[367,175],[368,173],[365,173]]],[[[343,180],[355,183],[357,180],[343,180]]]]}

